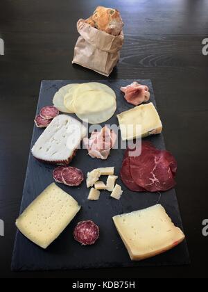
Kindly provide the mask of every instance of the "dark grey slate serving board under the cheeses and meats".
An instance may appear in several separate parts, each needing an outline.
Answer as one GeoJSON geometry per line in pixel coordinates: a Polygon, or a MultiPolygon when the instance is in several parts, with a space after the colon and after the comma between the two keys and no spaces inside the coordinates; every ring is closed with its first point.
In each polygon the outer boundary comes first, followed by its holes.
{"type": "MultiPolygon", "coordinates": [[[[132,81],[133,80],[99,81],[107,84],[116,92],[116,114],[133,107],[125,102],[123,94],[119,90],[121,86],[125,86],[132,81]]],[[[40,108],[43,106],[52,104],[53,96],[59,88],[68,83],[75,82],[82,83],[87,81],[42,81],[37,113],[39,113],[40,108]]],[[[150,101],[155,104],[151,81],[138,80],[138,82],[146,84],[150,88],[150,101]]],[[[118,124],[116,114],[111,120],[105,122],[105,124],[118,124]]],[[[43,129],[37,129],[34,127],[31,147],[42,132],[43,129]]],[[[159,149],[165,148],[162,134],[151,136],[146,139],[152,141],[159,149]]],[[[76,166],[77,168],[82,169],[85,175],[94,168],[115,166],[115,173],[119,174],[124,152],[124,149],[112,149],[107,161],[101,161],[87,156],[87,150],[79,149],[76,157],[71,162],[71,166],[76,166]]],[[[53,168],[54,166],[52,165],[45,165],[44,163],[36,161],[30,153],[20,213],[24,211],[33,200],[35,200],[37,195],[39,195],[46,186],[49,186],[49,184],[53,182],[53,168]]],[[[89,189],[87,189],[85,182],[78,188],[59,185],[78,201],[82,206],[81,211],[47,250],[42,250],[37,245],[31,243],[31,241],[28,241],[27,238],[17,231],[15,248],[12,256],[12,270],[67,270],[72,268],[110,268],[189,264],[189,252],[186,241],[177,246],[177,248],[166,252],[165,254],[153,257],[152,259],[140,262],[130,261],[128,252],[126,251],[119,234],[116,232],[116,228],[112,222],[112,217],[121,213],[153,206],[154,204],[157,204],[159,194],[134,193],[128,190],[122,184],[120,179],[118,183],[121,184],[123,190],[125,190],[120,201],[110,198],[110,193],[103,191],[100,200],[96,202],[87,200],[89,189]],[[101,236],[95,245],[83,247],[74,241],[72,235],[73,228],[81,220],[93,220],[100,227],[101,236]]],[[[162,193],[159,203],[164,206],[175,225],[183,229],[175,190],[168,190],[166,193],[162,193]]]]}

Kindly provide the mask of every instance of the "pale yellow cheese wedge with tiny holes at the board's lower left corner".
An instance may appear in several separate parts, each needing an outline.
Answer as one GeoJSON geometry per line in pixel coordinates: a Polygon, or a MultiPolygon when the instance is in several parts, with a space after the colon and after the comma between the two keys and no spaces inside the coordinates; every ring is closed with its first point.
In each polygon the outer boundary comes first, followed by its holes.
{"type": "Polygon", "coordinates": [[[48,186],[19,216],[19,231],[41,248],[48,246],[80,210],[78,202],[55,184],[48,186]]]}

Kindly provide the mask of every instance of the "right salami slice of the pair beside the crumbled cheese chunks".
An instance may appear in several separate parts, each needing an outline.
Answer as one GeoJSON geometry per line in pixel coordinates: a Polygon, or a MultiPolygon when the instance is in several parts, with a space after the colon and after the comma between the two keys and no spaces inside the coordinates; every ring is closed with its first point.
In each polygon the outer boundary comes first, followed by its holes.
{"type": "Polygon", "coordinates": [[[83,172],[78,168],[67,167],[62,170],[62,181],[67,186],[79,186],[83,180],[83,172]]]}

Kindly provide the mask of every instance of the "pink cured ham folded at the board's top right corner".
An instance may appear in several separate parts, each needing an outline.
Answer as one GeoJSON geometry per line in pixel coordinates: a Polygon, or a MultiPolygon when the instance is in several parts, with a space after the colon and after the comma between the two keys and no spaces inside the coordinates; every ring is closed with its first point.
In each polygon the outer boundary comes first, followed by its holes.
{"type": "Polygon", "coordinates": [[[150,99],[148,86],[143,86],[136,81],[128,86],[121,87],[121,91],[125,93],[125,100],[134,106],[139,106],[139,104],[148,102],[150,99]]]}

